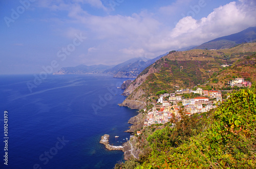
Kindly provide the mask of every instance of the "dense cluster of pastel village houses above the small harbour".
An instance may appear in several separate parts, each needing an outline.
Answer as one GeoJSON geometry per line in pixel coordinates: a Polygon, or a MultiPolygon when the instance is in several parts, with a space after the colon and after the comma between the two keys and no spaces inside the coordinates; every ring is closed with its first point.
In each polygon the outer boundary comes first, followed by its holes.
{"type": "MultiPolygon", "coordinates": [[[[184,91],[183,91],[184,92],[184,91]]],[[[186,91],[187,92],[187,91],[186,91]]],[[[175,93],[160,95],[158,103],[148,112],[144,126],[150,126],[152,124],[164,124],[175,115],[178,119],[180,118],[179,110],[184,108],[188,116],[195,113],[206,112],[212,108],[216,108],[216,103],[222,101],[222,95],[219,91],[206,91],[198,88],[196,91],[190,91],[198,93],[205,97],[196,97],[185,99],[182,96],[176,95],[175,93]],[[216,98],[211,99],[209,98],[216,98]],[[182,103],[178,105],[178,103],[182,103]]],[[[180,94],[180,92],[177,92],[180,94]]]]}

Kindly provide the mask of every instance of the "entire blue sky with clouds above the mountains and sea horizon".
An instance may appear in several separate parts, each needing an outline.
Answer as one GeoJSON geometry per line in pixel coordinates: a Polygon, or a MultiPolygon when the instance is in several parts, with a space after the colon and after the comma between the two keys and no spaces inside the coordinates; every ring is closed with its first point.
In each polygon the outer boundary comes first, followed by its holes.
{"type": "Polygon", "coordinates": [[[0,74],[153,59],[256,26],[255,0],[1,0],[0,8],[0,74]]]}

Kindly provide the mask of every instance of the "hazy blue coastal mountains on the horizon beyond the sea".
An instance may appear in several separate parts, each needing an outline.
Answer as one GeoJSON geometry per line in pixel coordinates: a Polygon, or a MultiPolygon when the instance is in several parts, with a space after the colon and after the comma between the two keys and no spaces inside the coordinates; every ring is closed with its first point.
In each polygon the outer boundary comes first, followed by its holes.
{"type": "Polygon", "coordinates": [[[76,67],[64,67],[53,74],[89,74],[89,73],[102,73],[102,74],[112,74],[117,78],[136,78],[140,72],[142,72],[146,67],[150,66],[157,60],[164,57],[166,54],[162,54],[154,59],[147,58],[133,58],[125,61],[116,66],[106,66],[106,65],[79,65],[76,67]]]}

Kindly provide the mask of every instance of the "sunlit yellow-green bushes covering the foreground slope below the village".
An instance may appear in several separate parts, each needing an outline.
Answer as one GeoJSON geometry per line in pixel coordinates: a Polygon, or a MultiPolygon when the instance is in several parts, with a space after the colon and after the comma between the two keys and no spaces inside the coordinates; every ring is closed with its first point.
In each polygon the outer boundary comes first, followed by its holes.
{"type": "MultiPolygon", "coordinates": [[[[181,121],[174,117],[170,122],[174,127],[169,123],[152,134],[148,132],[152,132],[152,126],[143,129],[140,135],[143,141],[138,142],[144,143],[143,149],[148,151],[140,160],[132,159],[131,166],[137,169],[256,167],[255,85],[233,93],[216,110],[190,117],[182,110],[180,114],[181,121]]],[[[121,167],[126,168],[124,164],[121,167]]]]}

